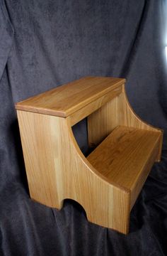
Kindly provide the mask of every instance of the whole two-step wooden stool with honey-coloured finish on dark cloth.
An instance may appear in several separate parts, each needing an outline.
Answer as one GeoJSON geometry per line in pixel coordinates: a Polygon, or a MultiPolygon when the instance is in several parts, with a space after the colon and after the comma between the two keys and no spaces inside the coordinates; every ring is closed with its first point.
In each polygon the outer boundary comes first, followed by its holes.
{"type": "Polygon", "coordinates": [[[30,197],[61,209],[71,198],[92,223],[128,233],[129,215],[163,132],[129,106],[125,79],[86,77],[16,104],[30,197]],[[71,127],[87,118],[86,158],[71,127]]]}

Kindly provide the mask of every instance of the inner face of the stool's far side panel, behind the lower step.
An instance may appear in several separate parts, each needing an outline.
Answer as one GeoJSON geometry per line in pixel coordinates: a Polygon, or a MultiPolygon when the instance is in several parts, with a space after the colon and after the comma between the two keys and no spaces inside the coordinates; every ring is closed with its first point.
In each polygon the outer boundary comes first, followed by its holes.
{"type": "MultiPolygon", "coordinates": [[[[117,126],[134,127],[155,132],[159,131],[161,132],[162,142],[162,130],[146,124],[146,122],[142,121],[142,119],[140,119],[137,114],[134,113],[132,107],[130,107],[125,92],[125,85],[123,85],[123,92],[119,96],[115,97],[96,112],[93,112],[88,116],[89,145],[97,146],[117,126]]],[[[162,143],[159,144],[159,154],[156,159],[157,161],[161,159],[161,145],[162,143]]]]}

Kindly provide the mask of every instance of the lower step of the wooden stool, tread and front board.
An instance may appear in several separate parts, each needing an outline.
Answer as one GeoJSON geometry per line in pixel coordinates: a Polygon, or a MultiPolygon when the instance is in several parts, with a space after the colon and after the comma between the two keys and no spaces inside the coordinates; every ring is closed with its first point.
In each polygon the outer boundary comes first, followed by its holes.
{"type": "Polygon", "coordinates": [[[156,159],[159,153],[160,139],[161,132],[117,127],[87,159],[109,182],[131,191],[134,203],[154,164],[151,156],[156,159]]]}

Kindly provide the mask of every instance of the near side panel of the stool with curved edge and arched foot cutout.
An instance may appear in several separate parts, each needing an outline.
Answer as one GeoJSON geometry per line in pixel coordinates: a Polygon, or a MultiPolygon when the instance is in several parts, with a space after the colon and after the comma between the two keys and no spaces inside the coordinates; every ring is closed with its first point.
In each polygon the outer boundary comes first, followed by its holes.
{"type": "Polygon", "coordinates": [[[91,222],[127,233],[129,191],[109,183],[91,166],[67,119],[18,110],[18,121],[31,198],[58,209],[64,198],[71,198],[91,222]]]}

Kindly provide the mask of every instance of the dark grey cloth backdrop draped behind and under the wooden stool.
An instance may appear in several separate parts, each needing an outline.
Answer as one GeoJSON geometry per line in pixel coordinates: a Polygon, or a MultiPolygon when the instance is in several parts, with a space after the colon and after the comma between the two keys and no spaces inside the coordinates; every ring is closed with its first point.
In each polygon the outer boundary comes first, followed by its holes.
{"type": "MultiPolygon", "coordinates": [[[[0,255],[167,255],[166,139],[122,235],[74,201],[58,211],[30,200],[14,109],[86,75],[122,77],[134,110],[166,136],[166,14],[163,0],[0,0],[0,255]]],[[[86,153],[86,120],[74,134],[86,153]]]]}

